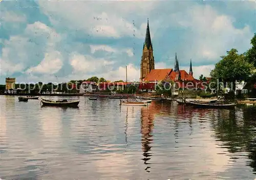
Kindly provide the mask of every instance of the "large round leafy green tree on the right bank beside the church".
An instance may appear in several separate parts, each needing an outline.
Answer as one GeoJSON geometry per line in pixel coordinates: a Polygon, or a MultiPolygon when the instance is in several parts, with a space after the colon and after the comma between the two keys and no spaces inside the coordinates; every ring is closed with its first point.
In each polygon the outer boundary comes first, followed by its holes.
{"type": "Polygon", "coordinates": [[[246,61],[243,54],[238,54],[236,49],[227,51],[227,55],[221,58],[210,73],[215,81],[231,82],[234,86],[236,80],[247,80],[252,75],[253,65],[246,61]]]}

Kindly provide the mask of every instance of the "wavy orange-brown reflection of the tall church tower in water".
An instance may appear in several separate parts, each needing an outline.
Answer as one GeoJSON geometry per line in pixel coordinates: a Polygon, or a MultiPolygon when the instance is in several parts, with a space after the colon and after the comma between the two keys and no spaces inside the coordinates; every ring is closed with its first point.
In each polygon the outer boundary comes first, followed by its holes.
{"type": "Polygon", "coordinates": [[[150,172],[150,164],[148,161],[151,159],[151,143],[153,142],[152,130],[154,128],[154,105],[150,107],[141,108],[141,145],[144,158],[144,164],[146,165],[145,170],[150,172]]]}

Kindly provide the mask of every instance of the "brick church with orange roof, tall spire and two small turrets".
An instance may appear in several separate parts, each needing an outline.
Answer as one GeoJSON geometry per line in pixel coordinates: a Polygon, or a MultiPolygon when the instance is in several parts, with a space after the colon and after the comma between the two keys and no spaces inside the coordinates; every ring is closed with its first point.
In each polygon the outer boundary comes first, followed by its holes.
{"type": "Polygon", "coordinates": [[[175,55],[174,69],[155,69],[155,59],[153,54],[153,46],[150,36],[150,26],[146,27],[146,36],[143,43],[143,51],[140,63],[140,82],[158,82],[158,81],[197,81],[193,77],[192,62],[190,59],[189,73],[180,70],[177,54],[175,55]]]}

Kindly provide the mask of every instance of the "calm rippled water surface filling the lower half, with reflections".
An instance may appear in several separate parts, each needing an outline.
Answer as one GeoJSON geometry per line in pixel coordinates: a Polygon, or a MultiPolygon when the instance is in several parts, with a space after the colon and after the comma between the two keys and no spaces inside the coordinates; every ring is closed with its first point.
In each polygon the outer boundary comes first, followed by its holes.
{"type": "Polygon", "coordinates": [[[256,109],[79,108],[0,96],[3,179],[254,179],[256,109]]]}

